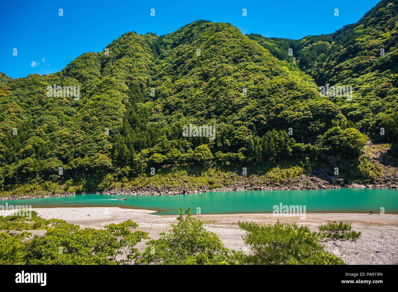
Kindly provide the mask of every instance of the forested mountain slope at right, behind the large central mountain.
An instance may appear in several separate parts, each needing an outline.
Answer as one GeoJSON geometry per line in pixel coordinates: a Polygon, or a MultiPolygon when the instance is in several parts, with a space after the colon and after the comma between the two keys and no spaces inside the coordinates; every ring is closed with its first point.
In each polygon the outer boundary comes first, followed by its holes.
{"type": "Polygon", "coordinates": [[[398,130],[397,20],[398,2],[382,0],[357,23],[330,35],[300,40],[248,37],[280,60],[297,64],[318,86],[352,86],[351,100],[330,100],[362,133],[375,141],[392,142],[398,130]],[[289,56],[289,48],[293,56],[289,56]],[[385,135],[380,135],[380,128],[385,128],[385,135]]]}

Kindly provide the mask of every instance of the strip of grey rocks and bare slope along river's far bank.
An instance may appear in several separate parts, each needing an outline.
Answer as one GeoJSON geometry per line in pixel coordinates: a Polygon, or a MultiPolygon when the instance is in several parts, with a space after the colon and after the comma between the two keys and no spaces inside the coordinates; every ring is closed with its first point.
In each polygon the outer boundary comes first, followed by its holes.
{"type": "MultiPolygon", "coordinates": [[[[103,189],[97,186],[86,193],[107,193],[116,195],[179,195],[188,193],[201,193],[207,191],[252,191],[252,190],[319,190],[319,189],[338,189],[338,188],[383,188],[397,190],[398,188],[398,163],[387,154],[386,147],[383,145],[368,146],[362,151],[369,164],[381,170],[381,175],[370,184],[357,184],[348,181],[341,176],[330,176],[328,170],[334,169],[333,165],[322,166],[307,175],[301,174],[293,176],[290,170],[285,172],[284,177],[294,177],[286,180],[265,179],[266,176],[244,176],[230,172],[217,182],[207,180],[207,184],[192,183],[190,177],[180,179],[170,177],[161,186],[158,184],[143,184],[141,186],[128,186],[120,188],[103,189]]],[[[62,186],[63,187],[63,186],[62,186]]],[[[61,187],[61,188],[62,188],[61,187]]],[[[397,191],[398,193],[398,191],[397,191]]],[[[2,195],[0,200],[33,199],[43,197],[62,197],[75,195],[73,192],[59,193],[28,193],[21,195],[2,195]]],[[[82,193],[84,194],[84,193],[82,193]]]]}

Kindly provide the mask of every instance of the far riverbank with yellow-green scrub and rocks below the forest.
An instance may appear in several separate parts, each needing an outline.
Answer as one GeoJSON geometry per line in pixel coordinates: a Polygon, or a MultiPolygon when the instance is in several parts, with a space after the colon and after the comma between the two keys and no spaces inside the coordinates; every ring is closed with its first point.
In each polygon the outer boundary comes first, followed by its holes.
{"type": "MultiPolygon", "coordinates": [[[[369,141],[368,141],[369,142],[369,141]]],[[[62,197],[77,194],[179,195],[207,191],[320,190],[331,188],[384,188],[397,190],[398,161],[389,144],[366,144],[360,155],[344,164],[328,156],[305,163],[282,161],[267,164],[236,164],[220,167],[216,162],[164,165],[154,174],[131,177],[131,169],[117,168],[102,178],[83,176],[69,180],[32,180],[10,190],[0,189],[0,201],[62,197]],[[336,167],[339,166],[339,168],[336,167]],[[336,174],[336,170],[337,173],[336,174]]]]}

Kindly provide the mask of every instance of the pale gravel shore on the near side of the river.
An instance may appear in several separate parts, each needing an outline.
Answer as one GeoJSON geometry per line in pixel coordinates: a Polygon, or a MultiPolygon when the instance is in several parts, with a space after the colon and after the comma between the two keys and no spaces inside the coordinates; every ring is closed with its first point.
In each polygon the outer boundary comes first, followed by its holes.
{"type": "MultiPolygon", "coordinates": [[[[166,231],[169,224],[175,222],[177,217],[156,215],[155,211],[151,210],[118,207],[33,208],[32,210],[45,219],[62,219],[82,228],[103,228],[109,223],[120,223],[131,219],[139,224],[138,230],[149,232],[152,239],[157,239],[159,233],[166,231]]],[[[1,216],[10,213],[14,213],[14,210],[0,211],[1,216]]],[[[278,219],[273,214],[194,214],[193,217],[202,220],[207,230],[217,233],[226,247],[241,251],[250,251],[250,248],[242,239],[245,231],[241,230],[236,222],[240,220],[272,224],[278,219]]],[[[341,257],[347,264],[398,264],[398,215],[310,213],[306,214],[305,219],[279,217],[279,220],[289,224],[296,222],[297,225],[307,225],[313,231],[328,220],[352,223],[355,231],[362,232],[361,238],[357,242],[328,242],[325,245],[327,251],[341,257]]]]}

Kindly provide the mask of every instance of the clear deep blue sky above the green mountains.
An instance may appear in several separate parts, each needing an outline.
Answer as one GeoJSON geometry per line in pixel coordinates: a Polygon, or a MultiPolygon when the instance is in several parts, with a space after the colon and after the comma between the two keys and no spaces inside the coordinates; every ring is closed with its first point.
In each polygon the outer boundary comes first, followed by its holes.
{"type": "Polygon", "coordinates": [[[62,70],[87,51],[103,50],[127,31],[164,35],[198,19],[229,22],[246,33],[299,39],[357,22],[378,0],[4,1],[0,72],[18,78],[62,70]],[[59,9],[63,16],[59,16],[59,9]],[[155,16],[150,16],[151,8],[155,16]],[[242,9],[247,16],[242,16],[242,9]],[[334,9],[339,16],[334,16],[334,9]],[[13,49],[17,56],[13,56],[13,49]]]}

